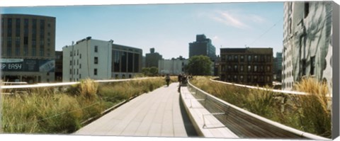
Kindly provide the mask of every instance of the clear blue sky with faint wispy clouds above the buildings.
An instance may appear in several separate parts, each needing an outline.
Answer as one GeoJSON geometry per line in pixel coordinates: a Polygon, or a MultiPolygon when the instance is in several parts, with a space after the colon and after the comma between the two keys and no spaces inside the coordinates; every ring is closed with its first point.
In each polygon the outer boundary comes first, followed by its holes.
{"type": "Polygon", "coordinates": [[[283,2],[208,4],[120,4],[99,6],[1,7],[1,13],[56,17],[56,50],[91,36],[139,47],[154,47],[164,59],[188,58],[188,43],[205,34],[216,47],[283,47],[283,2]]]}

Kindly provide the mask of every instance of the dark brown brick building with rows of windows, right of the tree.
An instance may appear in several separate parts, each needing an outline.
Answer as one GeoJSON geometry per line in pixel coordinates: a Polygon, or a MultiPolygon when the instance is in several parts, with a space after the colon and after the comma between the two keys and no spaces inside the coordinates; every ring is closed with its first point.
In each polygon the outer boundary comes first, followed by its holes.
{"type": "Polygon", "coordinates": [[[221,48],[220,80],[272,86],[273,48],[221,48]]]}

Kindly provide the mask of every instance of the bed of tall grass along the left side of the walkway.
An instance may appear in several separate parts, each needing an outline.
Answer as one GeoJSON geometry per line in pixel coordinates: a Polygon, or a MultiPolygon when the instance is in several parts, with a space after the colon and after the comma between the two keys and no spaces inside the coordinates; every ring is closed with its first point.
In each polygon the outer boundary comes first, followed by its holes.
{"type": "Polygon", "coordinates": [[[1,95],[2,129],[8,133],[74,132],[83,121],[116,103],[164,85],[162,77],[111,84],[85,79],[67,91],[40,88],[30,89],[28,94],[1,95]]]}

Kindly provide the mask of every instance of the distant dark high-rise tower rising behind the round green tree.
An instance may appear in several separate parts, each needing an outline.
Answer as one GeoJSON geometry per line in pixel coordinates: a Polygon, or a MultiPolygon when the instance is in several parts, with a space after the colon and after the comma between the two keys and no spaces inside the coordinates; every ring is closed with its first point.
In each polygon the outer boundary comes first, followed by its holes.
{"type": "Polygon", "coordinates": [[[189,43],[189,58],[196,55],[208,56],[212,62],[216,60],[216,48],[204,34],[196,35],[196,41],[189,43]]]}

